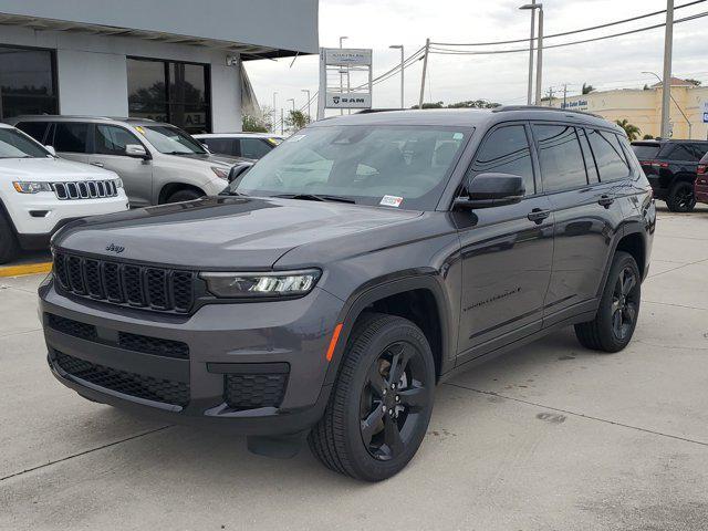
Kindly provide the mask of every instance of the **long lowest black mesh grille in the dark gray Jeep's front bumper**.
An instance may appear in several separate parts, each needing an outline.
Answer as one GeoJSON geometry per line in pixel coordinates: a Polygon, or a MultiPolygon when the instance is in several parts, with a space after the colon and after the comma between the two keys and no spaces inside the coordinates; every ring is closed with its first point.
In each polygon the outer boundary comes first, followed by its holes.
{"type": "Polygon", "coordinates": [[[189,384],[154,378],[142,374],[97,365],[54,351],[54,362],[64,372],[124,395],[185,407],[189,403],[189,384]]]}

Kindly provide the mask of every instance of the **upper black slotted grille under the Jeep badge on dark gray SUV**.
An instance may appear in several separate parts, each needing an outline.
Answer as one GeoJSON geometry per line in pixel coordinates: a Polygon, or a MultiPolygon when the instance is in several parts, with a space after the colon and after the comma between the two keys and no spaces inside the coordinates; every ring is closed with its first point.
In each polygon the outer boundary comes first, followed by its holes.
{"type": "Polygon", "coordinates": [[[75,295],[162,312],[187,313],[194,305],[195,274],[190,271],[58,252],[54,272],[60,285],[75,295]]]}

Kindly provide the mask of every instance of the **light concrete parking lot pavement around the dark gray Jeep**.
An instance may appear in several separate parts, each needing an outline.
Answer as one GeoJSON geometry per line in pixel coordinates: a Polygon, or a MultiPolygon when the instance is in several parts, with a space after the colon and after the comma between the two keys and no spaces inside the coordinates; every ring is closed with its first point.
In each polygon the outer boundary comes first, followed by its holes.
{"type": "Polygon", "coordinates": [[[80,398],[46,368],[41,279],[0,278],[0,529],[708,527],[708,208],[660,210],[627,350],[568,330],[440,386],[378,485],[80,398]]]}

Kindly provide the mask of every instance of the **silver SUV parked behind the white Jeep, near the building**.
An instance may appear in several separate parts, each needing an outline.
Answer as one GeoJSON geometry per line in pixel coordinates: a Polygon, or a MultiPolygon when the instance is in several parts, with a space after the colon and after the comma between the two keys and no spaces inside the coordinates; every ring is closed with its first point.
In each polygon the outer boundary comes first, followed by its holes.
{"type": "Polygon", "coordinates": [[[133,207],[219,194],[242,162],[209,153],[174,125],[145,118],[19,116],[9,122],[62,158],[118,174],[133,207]]]}

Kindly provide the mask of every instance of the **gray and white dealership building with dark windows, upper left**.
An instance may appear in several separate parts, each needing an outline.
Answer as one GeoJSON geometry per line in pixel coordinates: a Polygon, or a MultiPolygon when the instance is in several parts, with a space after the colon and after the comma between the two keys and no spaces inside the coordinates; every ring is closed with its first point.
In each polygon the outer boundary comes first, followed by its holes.
{"type": "Polygon", "coordinates": [[[243,62],[317,53],[317,0],[2,0],[0,121],[147,117],[241,129],[243,62]]]}

